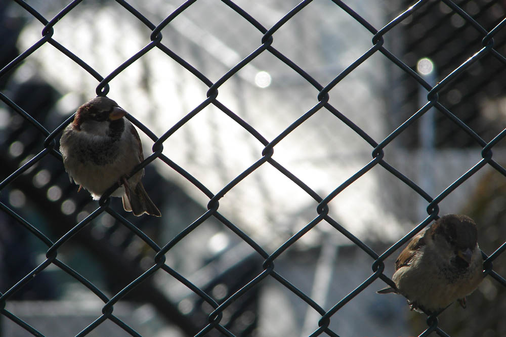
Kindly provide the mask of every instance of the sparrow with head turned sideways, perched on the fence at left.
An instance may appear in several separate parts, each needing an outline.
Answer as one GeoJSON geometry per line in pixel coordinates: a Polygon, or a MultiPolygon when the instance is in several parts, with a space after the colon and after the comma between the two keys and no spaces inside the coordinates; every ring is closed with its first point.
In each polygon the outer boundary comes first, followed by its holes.
{"type": "Polygon", "coordinates": [[[70,182],[88,190],[94,200],[118,182],[111,196],[121,197],[123,208],[135,216],[160,217],[141,178],[144,168],[129,177],[144,160],[141,140],[127,112],[107,97],[96,97],[81,105],[60,139],[63,165],[70,182]]]}

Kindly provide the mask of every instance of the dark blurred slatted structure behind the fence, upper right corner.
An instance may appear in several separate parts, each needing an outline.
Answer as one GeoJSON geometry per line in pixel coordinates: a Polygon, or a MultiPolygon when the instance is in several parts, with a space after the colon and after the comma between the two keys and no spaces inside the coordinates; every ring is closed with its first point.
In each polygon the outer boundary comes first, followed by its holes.
{"type": "MultiPolygon", "coordinates": [[[[403,8],[412,5],[403,1],[403,8]]],[[[412,69],[421,58],[429,58],[436,67],[436,78],[441,80],[482,48],[484,34],[472,22],[462,18],[443,1],[429,1],[406,18],[392,32],[400,41],[398,57],[412,69]]],[[[490,31],[506,14],[502,1],[459,0],[454,2],[472,19],[490,31]]],[[[397,14],[397,13],[396,13],[397,14]]],[[[506,31],[494,36],[494,49],[506,55],[506,31]]],[[[418,101],[420,86],[406,72],[393,66],[393,92],[396,95],[392,107],[395,124],[406,120],[421,106],[418,101]]],[[[485,141],[490,141],[506,126],[504,108],[504,77],[506,68],[492,55],[478,60],[456,80],[444,88],[439,102],[468,124],[485,141]]],[[[435,83],[434,83],[435,84],[435,83]]],[[[454,122],[436,112],[436,139],[438,148],[462,148],[477,146],[476,142],[454,122]]],[[[419,135],[401,135],[402,144],[408,148],[419,144],[419,135]]],[[[401,143],[400,143],[401,144],[401,143]]]]}

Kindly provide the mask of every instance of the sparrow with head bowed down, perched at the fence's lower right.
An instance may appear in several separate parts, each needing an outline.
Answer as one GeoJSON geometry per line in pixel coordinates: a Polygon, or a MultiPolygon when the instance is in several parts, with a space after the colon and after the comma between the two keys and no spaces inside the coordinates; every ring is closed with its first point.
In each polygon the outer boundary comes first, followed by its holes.
{"type": "Polygon", "coordinates": [[[377,293],[403,295],[411,310],[439,314],[455,301],[466,308],[466,296],[483,280],[483,258],[475,222],[449,214],[418,233],[395,261],[395,288],[377,293]]]}

